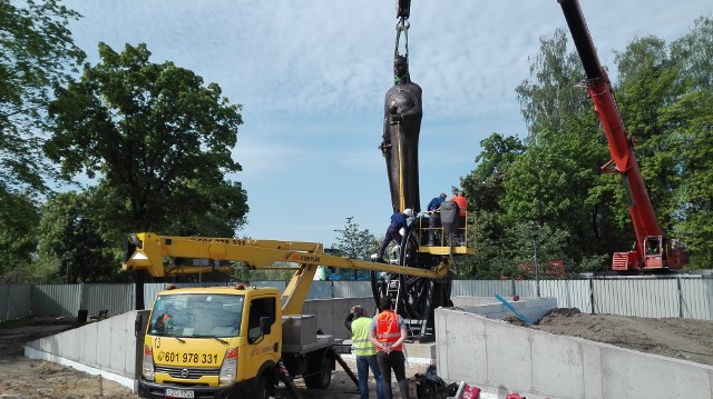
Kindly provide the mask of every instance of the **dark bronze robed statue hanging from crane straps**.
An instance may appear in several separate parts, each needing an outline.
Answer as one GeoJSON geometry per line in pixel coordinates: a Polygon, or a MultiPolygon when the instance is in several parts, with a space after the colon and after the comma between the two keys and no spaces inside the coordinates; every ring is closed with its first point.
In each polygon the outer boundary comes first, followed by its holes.
{"type": "Polygon", "coordinates": [[[383,141],[379,147],[387,160],[393,212],[421,210],[419,203],[419,132],[423,109],[421,87],[409,77],[409,61],[397,56],[394,84],[387,91],[383,141]]]}

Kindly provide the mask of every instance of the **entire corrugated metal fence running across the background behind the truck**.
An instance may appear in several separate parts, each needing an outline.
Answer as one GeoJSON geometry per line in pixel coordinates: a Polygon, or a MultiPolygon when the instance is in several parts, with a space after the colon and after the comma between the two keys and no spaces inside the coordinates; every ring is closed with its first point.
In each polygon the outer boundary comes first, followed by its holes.
{"type": "MultiPolygon", "coordinates": [[[[219,285],[219,283],[217,283],[219,285]]],[[[284,281],[253,281],[258,287],[284,291],[284,281]]],[[[535,297],[533,280],[456,280],[452,296],[535,297]]],[[[180,285],[206,286],[206,283],[180,285]]],[[[164,283],[144,286],[145,308],[150,308],[164,283]]],[[[648,318],[683,317],[713,320],[713,279],[675,277],[667,279],[580,279],[541,280],[541,297],[557,298],[560,308],[578,308],[588,313],[648,318]]],[[[307,299],[370,297],[369,281],[313,281],[307,299]]],[[[0,321],[30,317],[75,317],[80,309],[109,316],[135,309],[133,285],[4,285],[0,286],[0,321]]]]}

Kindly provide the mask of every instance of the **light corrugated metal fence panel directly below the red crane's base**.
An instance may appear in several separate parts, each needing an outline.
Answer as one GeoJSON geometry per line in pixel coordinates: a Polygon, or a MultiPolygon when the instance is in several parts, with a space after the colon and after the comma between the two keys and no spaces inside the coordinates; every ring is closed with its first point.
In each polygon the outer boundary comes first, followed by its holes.
{"type": "Polygon", "coordinates": [[[594,280],[596,313],[636,317],[678,317],[675,279],[594,280]]]}

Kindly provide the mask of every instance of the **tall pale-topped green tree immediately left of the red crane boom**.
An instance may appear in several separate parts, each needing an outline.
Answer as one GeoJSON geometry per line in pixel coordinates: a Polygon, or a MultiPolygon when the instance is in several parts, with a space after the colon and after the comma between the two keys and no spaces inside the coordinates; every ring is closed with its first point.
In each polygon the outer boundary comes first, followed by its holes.
{"type": "Polygon", "coordinates": [[[510,166],[501,201],[511,228],[535,220],[567,232],[567,257],[575,260],[598,253],[606,242],[613,190],[600,186],[599,167],[609,156],[592,100],[578,84],[583,74],[563,30],[540,39],[531,78],[516,89],[527,150],[510,166]]]}

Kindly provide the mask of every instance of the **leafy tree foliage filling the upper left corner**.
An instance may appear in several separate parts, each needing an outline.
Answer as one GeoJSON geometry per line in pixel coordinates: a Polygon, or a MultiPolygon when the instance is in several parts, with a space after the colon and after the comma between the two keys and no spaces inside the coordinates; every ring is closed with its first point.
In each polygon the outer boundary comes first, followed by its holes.
{"type": "Polygon", "coordinates": [[[45,189],[40,126],[51,88],[85,58],[67,29],[78,18],[56,0],[0,2],[0,191],[45,189]]]}

